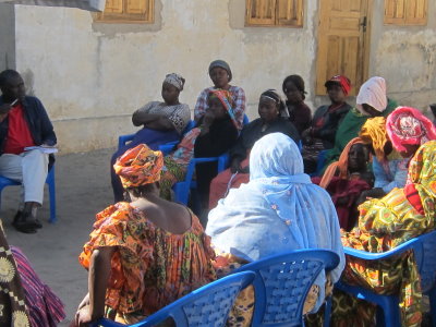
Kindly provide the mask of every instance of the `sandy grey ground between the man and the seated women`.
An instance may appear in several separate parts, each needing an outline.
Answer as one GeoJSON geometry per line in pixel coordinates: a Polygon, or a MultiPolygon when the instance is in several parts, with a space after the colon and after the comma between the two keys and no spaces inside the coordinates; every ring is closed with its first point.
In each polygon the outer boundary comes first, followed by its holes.
{"type": "Polygon", "coordinates": [[[85,154],[59,155],[56,161],[57,216],[56,225],[48,223],[49,201],[46,199],[39,218],[44,228],[36,234],[23,234],[11,227],[17,208],[20,187],[2,192],[1,219],[8,242],[21,247],[44,282],[63,301],[68,326],[87,291],[86,270],[77,255],[88,239],[95,214],[112,202],[109,159],[114,149],[85,154]]]}

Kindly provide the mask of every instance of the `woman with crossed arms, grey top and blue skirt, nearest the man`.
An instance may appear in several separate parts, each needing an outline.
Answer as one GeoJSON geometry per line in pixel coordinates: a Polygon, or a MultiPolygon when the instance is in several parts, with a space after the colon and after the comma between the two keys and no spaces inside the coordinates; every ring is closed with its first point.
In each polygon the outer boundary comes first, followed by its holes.
{"type": "Polygon", "coordinates": [[[144,128],[136,132],[132,142],[118,149],[111,158],[110,177],[116,203],[123,199],[120,178],[113,171],[113,164],[118,157],[138,144],[145,143],[150,148],[158,149],[161,144],[180,140],[191,120],[190,107],[179,102],[179,95],[183,90],[183,86],[184,78],[182,76],[175,73],[168,74],[162,83],[164,102],[148,102],[133,113],[133,124],[144,128]]]}

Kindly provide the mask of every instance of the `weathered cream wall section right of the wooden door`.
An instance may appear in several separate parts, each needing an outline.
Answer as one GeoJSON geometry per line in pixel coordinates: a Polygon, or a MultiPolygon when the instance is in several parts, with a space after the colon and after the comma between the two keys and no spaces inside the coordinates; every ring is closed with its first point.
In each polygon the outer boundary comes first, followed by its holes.
{"type": "Polygon", "coordinates": [[[427,26],[384,25],[384,1],[373,2],[370,75],[384,76],[399,104],[425,112],[436,102],[436,1],[428,1],[427,26]]]}

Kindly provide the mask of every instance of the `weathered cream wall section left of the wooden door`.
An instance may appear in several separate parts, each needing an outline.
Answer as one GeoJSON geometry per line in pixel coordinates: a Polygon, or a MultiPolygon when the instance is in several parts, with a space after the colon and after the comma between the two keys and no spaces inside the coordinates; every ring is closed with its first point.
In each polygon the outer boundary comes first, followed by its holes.
{"type": "Polygon", "coordinates": [[[225,59],[232,84],[246,90],[252,118],[264,89],[280,88],[290,73],[306,80],[313,73],[313,1],[304,28],[244,27],[244,0],[156,2],[153,25],[97,24],[80,10],[16,7],[16,68],[49,110],[63,152],[114,146],[119,134],[134,131],[133,110],[160,99],[169,72],[186,78],[181,101],[193,108],[211,84],[209,62],[225,59]]]}

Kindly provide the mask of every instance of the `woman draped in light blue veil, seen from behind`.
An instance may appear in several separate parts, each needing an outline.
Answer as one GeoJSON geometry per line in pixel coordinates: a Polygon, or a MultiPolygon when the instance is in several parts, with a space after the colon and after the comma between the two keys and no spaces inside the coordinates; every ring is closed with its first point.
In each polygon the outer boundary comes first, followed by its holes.
{"type": "MultiPolygon", "coordinates": [[[[338,216],[330,196],[303,173],[299,148],[282,133],[266,135],[255,143],[250,156],[250,182],[231,190],[209,213],[206,233],[219,253],[215,262],[218,270],[228,271],[299,249],[336,252],[340,263],[330,272],[332,282],[344,266],[338,216]]],[[[317,311],[324,302],[326,280],[320,272],[310,293],[312,305],[305,307],[305,313],[317,311]]],[[[253,308],[253,293],[241,294],[242,298],[245,301],[237,303],[231,326],[250,326],[247,313],[253,308]]]]}

